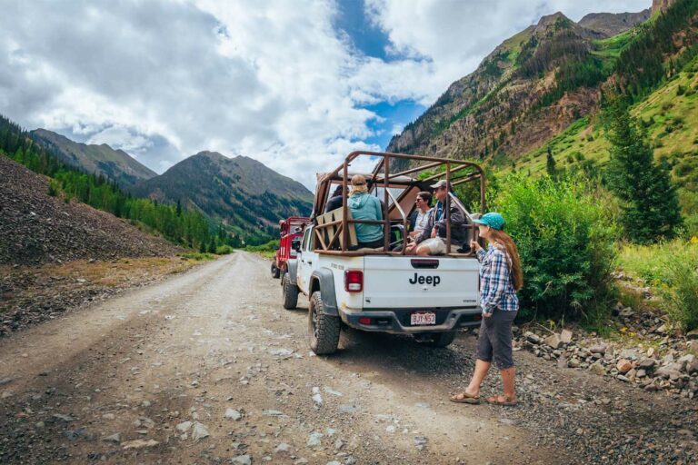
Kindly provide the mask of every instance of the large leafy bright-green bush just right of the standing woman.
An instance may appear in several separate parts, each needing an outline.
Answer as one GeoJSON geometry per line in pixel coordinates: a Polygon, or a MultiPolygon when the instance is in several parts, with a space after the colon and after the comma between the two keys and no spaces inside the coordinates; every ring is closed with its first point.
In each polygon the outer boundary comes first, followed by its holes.
{"type": "Polygon", "coordinates": [[[567,320],[607,308],[616,232],[610,194],[582,178],[511,175],[495,208],[519,247],[524,318],[567,320]]]}

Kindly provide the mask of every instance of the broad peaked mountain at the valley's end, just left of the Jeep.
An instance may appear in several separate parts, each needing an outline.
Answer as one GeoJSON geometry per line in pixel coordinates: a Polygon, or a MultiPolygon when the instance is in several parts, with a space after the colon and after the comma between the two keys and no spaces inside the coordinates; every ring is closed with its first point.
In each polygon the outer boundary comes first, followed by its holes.
{"type": "Polygon", "coordinates": [[[129,188],[137,196],[177,203],[220,219],[238,232],[270,231],[279,220],[307,215],[313,194],[252,158],[201,152],[129,188]]]}

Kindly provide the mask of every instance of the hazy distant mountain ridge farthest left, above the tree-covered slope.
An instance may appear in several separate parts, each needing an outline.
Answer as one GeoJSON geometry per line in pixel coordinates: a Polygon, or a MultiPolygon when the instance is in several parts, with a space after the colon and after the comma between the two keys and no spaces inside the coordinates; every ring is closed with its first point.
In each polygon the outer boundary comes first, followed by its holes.
{"type": "Polygon", "coordinates": [[[36,129],[31,132],[37,142],[51,148],[61,161],[84,170],[87,173],[103,174],[122,187],[157,175],[153,170],[138,163],[123,150],[114,150],[103,143],[101,145],[76,143],[61,134],[36,129]]]}

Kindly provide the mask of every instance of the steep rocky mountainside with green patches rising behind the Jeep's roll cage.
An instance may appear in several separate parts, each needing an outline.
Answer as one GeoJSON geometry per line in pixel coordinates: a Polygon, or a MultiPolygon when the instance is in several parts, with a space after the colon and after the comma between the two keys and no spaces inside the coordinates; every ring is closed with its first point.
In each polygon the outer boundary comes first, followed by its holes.
{"type": "MultiPolygon", "coordinates": [[[[671,2],[654,3],[659,15],[671,2]]],[[[594,14],[579,23],[562,13],[543,16],[496,47],[473,74],[451,84],[394,136],[387,151],[506,165],[518,161],[597,111],[604,83],[639,34],[634,26],[649,14],[594,14]]],[[[647,24],[653,27],[652,21],[647,24]]],[[[686,37],[676,35],[675,48],[690,46],[686,37]]],[[[666,52],[657,54],[661,69],[673,51],[660,52],[666,52]]]]}

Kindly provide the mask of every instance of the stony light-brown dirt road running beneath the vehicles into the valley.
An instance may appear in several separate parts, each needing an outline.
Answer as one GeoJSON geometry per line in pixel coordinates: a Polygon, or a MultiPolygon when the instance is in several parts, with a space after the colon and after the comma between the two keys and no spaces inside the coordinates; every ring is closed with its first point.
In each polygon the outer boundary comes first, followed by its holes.
{"type": "Polygon", "coordinates": [[[347,331],[314,357],[267,265],[236,252],[0,341],[0,462],[580,461],[522,428],[525,407],[447,401],[473,337],[438,350],[347,331]]]}

